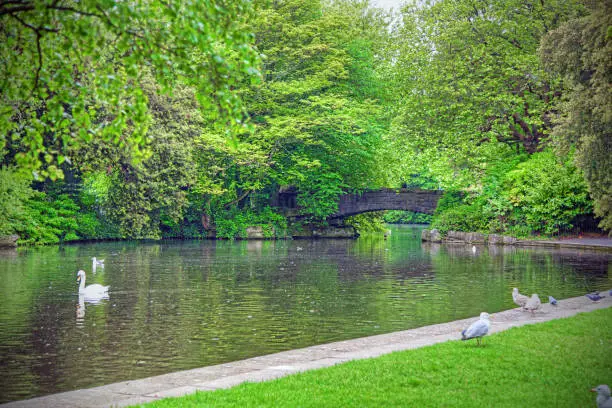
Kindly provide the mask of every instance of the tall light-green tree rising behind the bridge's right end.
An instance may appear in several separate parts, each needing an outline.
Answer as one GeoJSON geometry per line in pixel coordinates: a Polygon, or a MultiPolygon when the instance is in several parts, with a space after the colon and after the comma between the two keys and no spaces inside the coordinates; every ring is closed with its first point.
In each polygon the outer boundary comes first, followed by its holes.
{"type": "Polygon", "coordinates": [[[395,33],[404,109],[393,133],[409,158],[406,170],[424,168],[445,187],[467,186],[499,158],[542,150],[557,94],[537,47],[579,10],[571,0],[405,7],[395,33]]]}

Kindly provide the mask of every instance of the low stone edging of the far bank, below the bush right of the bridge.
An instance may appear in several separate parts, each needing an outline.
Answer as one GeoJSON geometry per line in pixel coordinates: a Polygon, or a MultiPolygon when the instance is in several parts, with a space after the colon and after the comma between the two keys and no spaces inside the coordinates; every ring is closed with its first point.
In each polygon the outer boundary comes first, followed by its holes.
{"type": "Polygon", "coordinates": [[[575,248],[594,249],[598,251],[612,252],[612,241],[607,243],[583,243],[575,241],[560,240],[520,240],[507,235],[483,234],[480,232],[448,231],[442,235],[437,229],[424,229],[421,231],[421,241],[431,243],[449,244],[471,244],[471,245],[506,245],[519,247],[543,247],[543,248],[575,248]]]}

